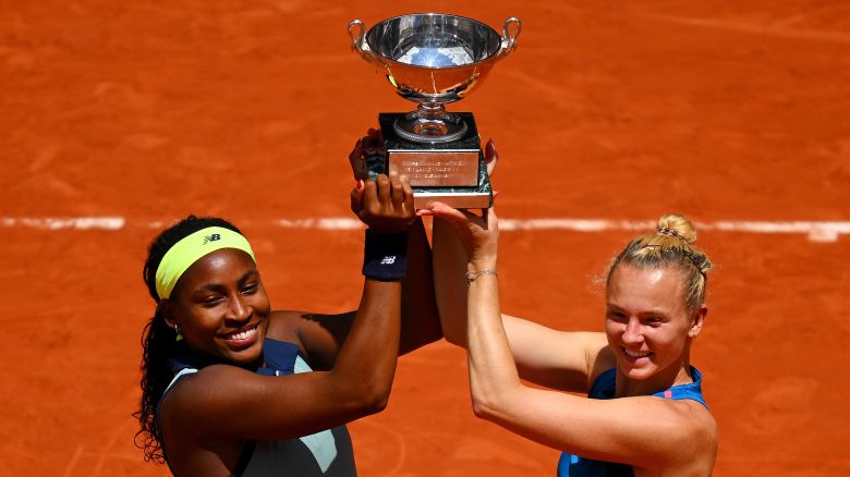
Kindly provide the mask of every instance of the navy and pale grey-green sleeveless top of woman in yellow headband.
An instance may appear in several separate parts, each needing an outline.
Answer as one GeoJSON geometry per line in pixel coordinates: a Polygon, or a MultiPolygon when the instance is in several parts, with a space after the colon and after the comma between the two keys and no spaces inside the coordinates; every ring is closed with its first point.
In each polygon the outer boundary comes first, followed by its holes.
{"type": "MultiPolygon", "coordinates": [[[[263,342],[266,365],[256,370],[263,376],[284,376],[311,372],[298,345],[266,338],[263,342]]],[[[174,379],[166,393],[181,379],[197,372],[211,362],[198,358],[172,359],[169,365],[174,379]]],[[[162,400],[159,400],[160,404],[162,400]]],[[[168,457],[166,457],[168,462],[168,457]]],[[[172,470],[173,474],[173,470],[172,470]]],[[[354,451],[345,426],[323,430],[298,439],[247,441],[231,477],[354,477],[354,451]]]]}

